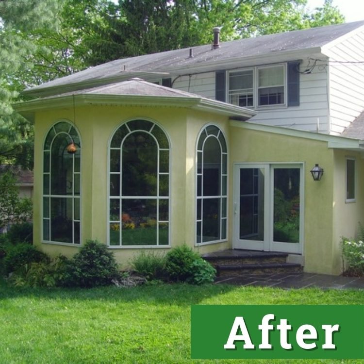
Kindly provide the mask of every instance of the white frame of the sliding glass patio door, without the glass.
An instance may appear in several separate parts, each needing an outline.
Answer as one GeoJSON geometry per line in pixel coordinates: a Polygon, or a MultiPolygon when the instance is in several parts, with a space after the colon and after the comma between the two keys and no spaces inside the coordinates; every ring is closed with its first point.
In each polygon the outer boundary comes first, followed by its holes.
{"type": "Polygon", "coordinates": [[[299,163],[234,163],[233,165],[233,219],[232,248],[283,251],[302,254],[304,231],[304,164],[299,163]],[[259,168],[264,172],[264,239],[240,239],[240,169],[259,168]],[[299,242],[285,243],[273,241],[273,209],[274,209],[274,169],[299,168],[299,242]]]}

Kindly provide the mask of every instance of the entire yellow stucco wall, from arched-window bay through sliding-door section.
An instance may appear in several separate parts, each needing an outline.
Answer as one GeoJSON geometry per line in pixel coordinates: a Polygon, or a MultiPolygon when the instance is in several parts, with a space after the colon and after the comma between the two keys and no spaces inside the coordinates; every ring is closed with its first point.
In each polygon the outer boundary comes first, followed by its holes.
{"type": "MultiPolygon", "coordinates": [[[[95,106],[76,108],[76,127],[82,141],[82,242],[107,238],[108,145],[116,128],[123,122],[145,118],[159,124],[170,139],[170,244],[195,247],[196,221],[196,143],[207,124],[218,125],[228,146],[228,239],[226,242],[199,245],[200,253],[232,247],[233,165],[235,163],[303,163],[304,224],[303,256],[306,272],[339,274],[341,272],[341,235],[353,236],[364,222],[363,194],[357,188],[357,202],[345,203],[345,157],[357,160],[358,179],[364,178],[364,164],[359,154],[328,148],[325,141],[237,127],[227,116],[176,107],[95,106]],[[319,163],[325,173],[314,182],[310,169],[319,163]]],[[[51,255],[71,256],[77,247],[41,242],[41,201],[43,143],[50,127],[61,120],[73,120],[73,109],[54,109],[35,115],[34,154],[34,243],[51,255]]],[[[241,123],[239,125],[244,125],[241,123]]],[[[155,248],[151,248],[155,249],[155,248]]],[[[166,252],[168,248],[158,248],[166,252]]],[[[113,248],[123,266],[139,248],[113,248]]]]}

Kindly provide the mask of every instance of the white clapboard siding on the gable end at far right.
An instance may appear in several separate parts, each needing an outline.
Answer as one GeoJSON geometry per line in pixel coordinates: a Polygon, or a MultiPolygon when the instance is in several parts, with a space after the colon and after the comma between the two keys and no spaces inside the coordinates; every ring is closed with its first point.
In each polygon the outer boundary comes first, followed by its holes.
{"type": "Polygon", "coordinates": [[[364,109],[364,32],[336,43],[326,54],[330,57],[330,132],[339,134],[364,109]]]}

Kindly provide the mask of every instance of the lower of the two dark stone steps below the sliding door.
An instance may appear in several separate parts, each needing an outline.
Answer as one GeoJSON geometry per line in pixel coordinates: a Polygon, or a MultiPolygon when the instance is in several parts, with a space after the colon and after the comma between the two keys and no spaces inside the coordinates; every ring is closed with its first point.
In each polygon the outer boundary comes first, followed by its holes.
{"type": "Polygon", "coordinates": [[[295,263],[265,263],[214,265],[219,277],[234,277],[242,274],[292,273],[301,272],[302,266],[295,263]]]}

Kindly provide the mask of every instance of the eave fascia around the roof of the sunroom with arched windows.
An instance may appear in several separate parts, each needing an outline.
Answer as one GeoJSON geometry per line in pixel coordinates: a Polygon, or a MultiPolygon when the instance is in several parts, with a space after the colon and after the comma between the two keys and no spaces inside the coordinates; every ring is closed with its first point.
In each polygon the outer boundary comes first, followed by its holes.
{"type": "Polygon", "coordinates": [[[58,109],[81,105],[143,105],[160,107],[181,107],[212,112],[230,117],[249,119],[256,113],[252,110],[221,101],[199,97],[164,97],[139,95],[67,95],[48,99],[36,99],[13,104],[14,109],[29,118],[35,111],[58,109]]]}

